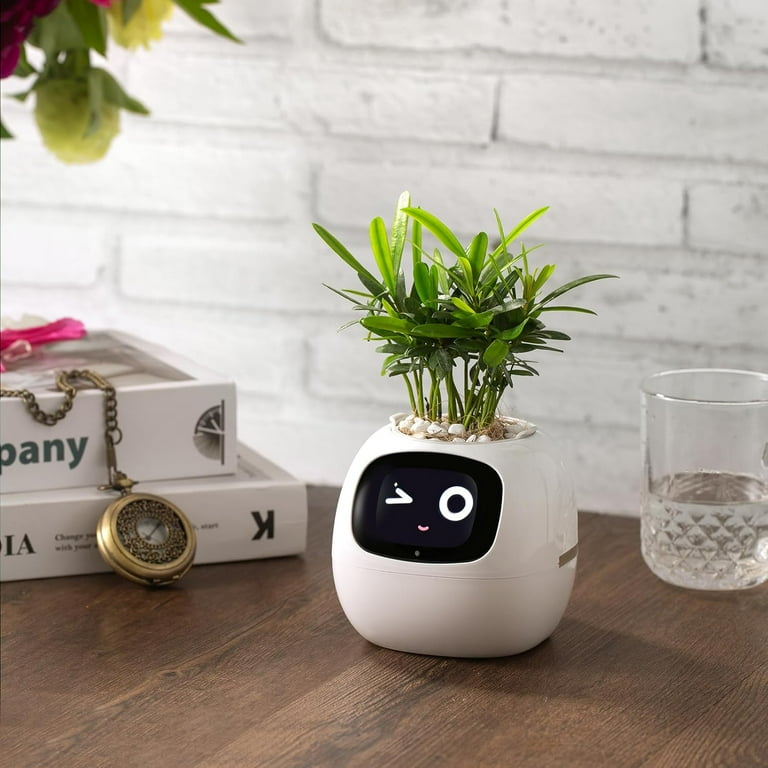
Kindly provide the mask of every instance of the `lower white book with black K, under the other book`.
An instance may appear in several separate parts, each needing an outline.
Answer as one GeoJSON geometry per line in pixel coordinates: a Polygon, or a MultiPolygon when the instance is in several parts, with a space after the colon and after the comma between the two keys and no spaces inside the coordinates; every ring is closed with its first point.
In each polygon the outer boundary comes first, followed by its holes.
{"type": "MultiPolygon", "coordinates": [[[[255,451],[238,446],[234,475],[141,483],[189,518],[195,565],[296,555],[306,548],[306,487],[255,451]]],[[[117,494],[94,486],[0,496],[0,581],[98,573],[110,568],[96,526],[117,494]]]]}

